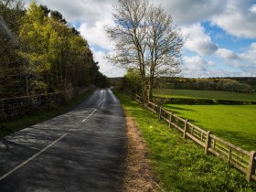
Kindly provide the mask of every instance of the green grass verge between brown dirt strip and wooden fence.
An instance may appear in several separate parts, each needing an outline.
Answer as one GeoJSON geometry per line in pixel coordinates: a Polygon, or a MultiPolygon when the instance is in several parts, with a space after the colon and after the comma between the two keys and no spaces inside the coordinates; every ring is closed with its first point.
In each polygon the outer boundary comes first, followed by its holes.
{"type": "Polygon", "coordinates": [[[114,91],[127,115],[132,116],[144,137],[153,172],[165,191],[256,191],[245,175],[181,133],[169,129],[152,112],[119,91],[114,91]]]}

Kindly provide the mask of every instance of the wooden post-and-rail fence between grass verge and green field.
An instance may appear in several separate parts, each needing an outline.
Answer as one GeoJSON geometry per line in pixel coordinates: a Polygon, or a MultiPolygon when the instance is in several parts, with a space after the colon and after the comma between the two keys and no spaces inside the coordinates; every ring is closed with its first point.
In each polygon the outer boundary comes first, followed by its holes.
{"type": "Polygon", "coordinates": [[[169,123],[169,127],[175,127],[181,133],[184,138],[192,139],[197,144],[205,148],[205,154],[216,155],[234,165],[240,172],[246,175],[248,181],[256,181],[256,152],[248,152],[241,149],[234,144],[230,144],[218,136],[207,132],[193,123],[189,123],[187,120],[177,116],[174,112],[166,111],[163,107],[157,104],[144,101],[143,98],[137,94],[132,94],[133,100],[143,104],[143,106],[158,115],[159,119],[165,120],[169,123]]]}

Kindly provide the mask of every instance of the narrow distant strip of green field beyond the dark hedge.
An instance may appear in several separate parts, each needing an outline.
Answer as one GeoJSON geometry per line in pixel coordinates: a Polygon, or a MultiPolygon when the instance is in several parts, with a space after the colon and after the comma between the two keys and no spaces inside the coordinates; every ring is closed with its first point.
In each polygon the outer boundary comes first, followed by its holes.
{"type": "Polygon", "coordinates": [[[156,96],[167,98],[197,98],[229,101],[256,101],[256,93],[240,93],[229,91],[195,91],[195,90],[155,90],[156,96]]]}

